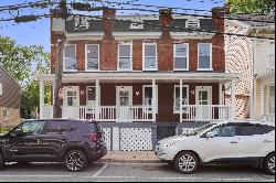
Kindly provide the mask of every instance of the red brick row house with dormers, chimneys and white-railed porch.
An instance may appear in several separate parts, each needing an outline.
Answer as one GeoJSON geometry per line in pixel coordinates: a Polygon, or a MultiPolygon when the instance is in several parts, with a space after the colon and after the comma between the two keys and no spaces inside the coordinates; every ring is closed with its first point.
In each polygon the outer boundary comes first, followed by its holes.
{"type": "MultiPolygon", "coordinates": [[[[225,72],[223,11],[212,18],[116,15],[51,19],[51,74],[39,75],[40,117],[44,85],[54,86],[59,32],[65,31],[63,118],[108,122],[184,122],[233,119],[235,98],[225,105],[224,85],[235,90],[236,73],[225,72]]],[[[52,87],[54,88],[54,87],[52,87]]],[[[52,95],[52,98],[54,96],[52,95]]]]}

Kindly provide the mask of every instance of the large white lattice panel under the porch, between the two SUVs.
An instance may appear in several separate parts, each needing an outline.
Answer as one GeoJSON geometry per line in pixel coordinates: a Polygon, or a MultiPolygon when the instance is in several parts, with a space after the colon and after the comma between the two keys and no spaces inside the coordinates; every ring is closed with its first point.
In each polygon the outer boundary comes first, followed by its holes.
{"type": "Polygon", "coordinates": [[[121,128],[120,151],[151,151],[152,132],[150,128],[121,128]]]}

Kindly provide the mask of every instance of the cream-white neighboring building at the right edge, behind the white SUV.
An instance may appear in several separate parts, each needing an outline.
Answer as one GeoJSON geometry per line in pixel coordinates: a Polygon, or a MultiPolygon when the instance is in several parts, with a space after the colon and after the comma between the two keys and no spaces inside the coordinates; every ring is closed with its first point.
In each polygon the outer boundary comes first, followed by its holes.
{"type": "MultiPolygon", "coordinates": [[[[226,32],[275,37],[273,15],[246,14],[238,19],[257,21],[226,21],[226,32]]],[[[275,119],[275,40],[226,36],[226,71],[241,73],[236,86],[236,117],[261,120],[275,119]]],[[[226,90],[226,94],[230,94],[226,90]]],[[[275,121],[275,120],[274,120],[275,121]]]]}

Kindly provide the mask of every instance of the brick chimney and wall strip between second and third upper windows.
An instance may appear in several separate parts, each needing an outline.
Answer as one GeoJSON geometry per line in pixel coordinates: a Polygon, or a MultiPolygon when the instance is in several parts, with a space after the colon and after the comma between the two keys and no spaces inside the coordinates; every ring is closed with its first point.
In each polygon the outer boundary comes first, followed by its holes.
{"type": "Polygon", "coordinates": [[[103,10],[104,39],[100,42],[99,67],[102,71],[117,69],[117,44],[113,36],[116,11],[105,8],[103,10]]]}

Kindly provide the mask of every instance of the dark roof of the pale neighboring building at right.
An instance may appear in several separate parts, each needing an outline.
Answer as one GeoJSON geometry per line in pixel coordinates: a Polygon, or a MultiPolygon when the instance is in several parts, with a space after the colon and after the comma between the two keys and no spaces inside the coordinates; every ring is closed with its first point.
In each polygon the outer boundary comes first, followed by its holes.
{"type": "Polygon", "coordinates": [[[230,14],[231,19],[238,19],[238,21],[251,26],[269,26],[275,25],[275,15],[258,15],[258,14],[230,14]],[[257,20],[257,21],[250,21],[257,20]],[[266,21],[273,22],[268,23],[266,21]]]}

